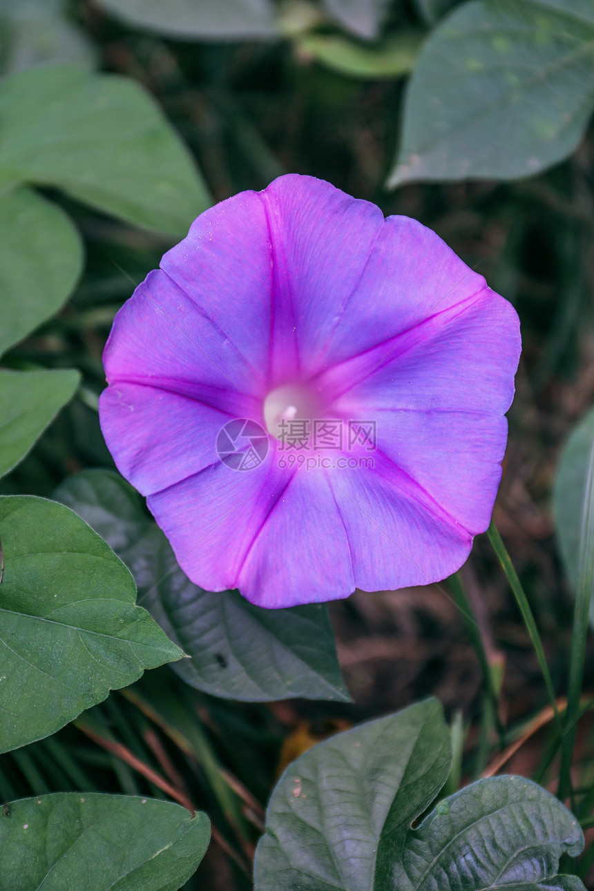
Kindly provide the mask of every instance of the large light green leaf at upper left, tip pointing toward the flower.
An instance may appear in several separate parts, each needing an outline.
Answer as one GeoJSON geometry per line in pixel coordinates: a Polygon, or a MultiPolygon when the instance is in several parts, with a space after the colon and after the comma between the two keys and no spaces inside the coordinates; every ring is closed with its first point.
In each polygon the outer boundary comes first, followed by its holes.
{"type": "Polygon", "coordinates": [[[0,187],[22,182],[58,186],[174,235],[210,203],[190,153],[142,86],[70,65],[0,83],[0,187]]]}

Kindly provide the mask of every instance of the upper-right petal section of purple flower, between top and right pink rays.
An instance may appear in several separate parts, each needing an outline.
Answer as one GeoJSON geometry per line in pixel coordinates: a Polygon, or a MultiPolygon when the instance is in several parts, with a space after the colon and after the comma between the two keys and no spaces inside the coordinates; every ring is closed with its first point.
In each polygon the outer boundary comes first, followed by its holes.
{"type": "Polygon", "coordinates": [[[295,327],[305,376],[484,288],[483,276],[426,226],[408,217],[385,220],[375,205],[328,183],[281,176],[262,194],[280,305],[273,348],[277,354],[277,328],[295,327]]]}

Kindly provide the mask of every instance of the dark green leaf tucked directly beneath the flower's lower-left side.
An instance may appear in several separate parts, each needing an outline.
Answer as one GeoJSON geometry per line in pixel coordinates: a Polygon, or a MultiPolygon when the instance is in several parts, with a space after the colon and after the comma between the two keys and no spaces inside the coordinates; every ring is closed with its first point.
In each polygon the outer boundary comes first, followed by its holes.
{"type": "Polygon", "coordinates": [[[193,687],[249,701],[348,699],[325,606],[261,609],[237,592],[191,584],[139,495],[116,473],[83,471],[55,497],[132,570],[139,601],[191,656],[173,667],[193,687]]]}

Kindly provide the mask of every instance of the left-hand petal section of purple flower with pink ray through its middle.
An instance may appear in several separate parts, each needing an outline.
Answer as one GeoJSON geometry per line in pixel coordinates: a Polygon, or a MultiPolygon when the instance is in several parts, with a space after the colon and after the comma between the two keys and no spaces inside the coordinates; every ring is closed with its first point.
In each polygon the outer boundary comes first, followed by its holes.
{"type": "Polygon", "coordinates": [[[226,421],[262,416],[245,358],[160,271],[118,312],[103,364],[110,381],[100,398],[103,436],[143,495],[215,461],[226,421]]]}

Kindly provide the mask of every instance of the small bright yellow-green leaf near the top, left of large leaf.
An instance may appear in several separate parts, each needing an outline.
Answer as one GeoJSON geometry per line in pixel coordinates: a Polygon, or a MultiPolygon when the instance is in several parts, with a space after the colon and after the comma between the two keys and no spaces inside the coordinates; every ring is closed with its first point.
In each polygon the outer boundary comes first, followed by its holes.
{"type": "Polygon", "coordinates": [[[297,45],[339,74],[352,78],[398,78],[414,66],[420,43],[419,34],[404,31],[373,47],[334,34],[307,34],[297,45]]]}

